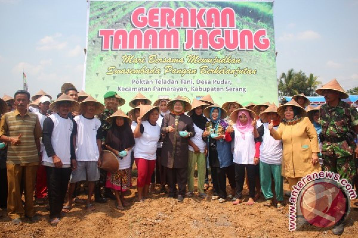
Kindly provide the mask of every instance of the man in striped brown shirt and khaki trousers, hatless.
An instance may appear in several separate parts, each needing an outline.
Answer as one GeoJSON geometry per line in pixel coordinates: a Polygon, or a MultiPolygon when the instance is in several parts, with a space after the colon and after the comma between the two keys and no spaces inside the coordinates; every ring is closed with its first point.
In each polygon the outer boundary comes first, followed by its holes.
{"type": "Polygon", "coordinates": [[[15,92],[16,110],[5,113],[0,121],[0,141],[8,142],[8,212],[13,224],[19,224],[24,216],[31,221],[38,220],[34,210],[34,189],[41,160],[42,131],[37,115],[26,108],[29,101],[29,92],[15,92]],[[21,181],[25,189],[25,209],[21,201],[21,181]]]}

